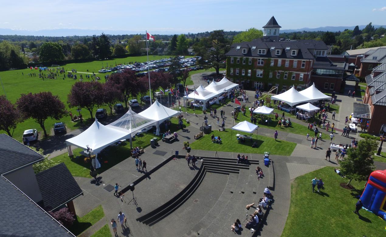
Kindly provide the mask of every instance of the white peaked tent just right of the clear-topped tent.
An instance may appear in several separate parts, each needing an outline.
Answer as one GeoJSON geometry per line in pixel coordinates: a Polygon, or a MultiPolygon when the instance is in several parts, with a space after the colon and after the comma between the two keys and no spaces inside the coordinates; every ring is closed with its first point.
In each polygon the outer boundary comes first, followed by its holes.
{"type": "Polygon", "coordinates": [[[142,111],[138,115],[145,117],[147,119],[157,120],[156,122],[156,135],[159,135],[159,124],[164,122],[166,119],[177,115],[178,111],[172,110],[171,108],[161,105],[161,103],[156,100],[149,108],[142,111]]]}

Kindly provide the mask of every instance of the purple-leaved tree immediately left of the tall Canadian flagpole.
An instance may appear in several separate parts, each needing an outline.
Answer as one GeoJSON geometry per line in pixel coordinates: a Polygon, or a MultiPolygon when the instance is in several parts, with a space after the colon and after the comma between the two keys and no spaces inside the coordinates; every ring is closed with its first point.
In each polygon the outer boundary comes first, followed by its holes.
{"type": "Polygon", "coordinates": [[[120,90],[126,108],[129,98],[136,98],[139,94],[139,79],[133,70],[125,69],[122,73],[114,73],[108,80],[120,90]]]}

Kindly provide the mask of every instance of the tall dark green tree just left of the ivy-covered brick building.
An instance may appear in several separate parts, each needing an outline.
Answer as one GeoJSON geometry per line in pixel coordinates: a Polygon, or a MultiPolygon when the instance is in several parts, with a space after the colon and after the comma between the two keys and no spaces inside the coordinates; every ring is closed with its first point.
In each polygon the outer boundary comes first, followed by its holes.
{"type": "Polygon", "coordinates": [[[193,45],[197,55],[201,55],[199,63],[205,69],[214,68],[220,74],[220,68],[225,68],[225,53],[229,51],[229,41],[224,36],[224,30],[214,30],[209,37],[202,38],[193,45]]]}

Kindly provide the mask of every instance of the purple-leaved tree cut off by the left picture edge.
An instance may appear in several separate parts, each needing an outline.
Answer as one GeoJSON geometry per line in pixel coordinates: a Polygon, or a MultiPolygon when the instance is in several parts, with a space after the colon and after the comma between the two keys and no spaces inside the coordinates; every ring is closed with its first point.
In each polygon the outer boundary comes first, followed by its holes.
{"type": "Polygon", "coordinates": [[[12,137],[16,125],[23,121],[22,114],[7,97],[0,96],[0,130],[8,133],[12,137]]]}

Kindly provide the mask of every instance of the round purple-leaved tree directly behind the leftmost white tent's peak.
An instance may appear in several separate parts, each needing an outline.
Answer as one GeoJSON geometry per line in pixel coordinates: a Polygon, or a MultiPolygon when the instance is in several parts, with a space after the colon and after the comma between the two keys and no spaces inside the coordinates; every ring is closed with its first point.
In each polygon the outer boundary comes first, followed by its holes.
{"type": "Polygon", "coordinates": [[[85,108],[93,118],[93,109],[103,104],[102,84],[97,81],[76,82],[67,96],[67,103],[70,108],[85,108]]]}

